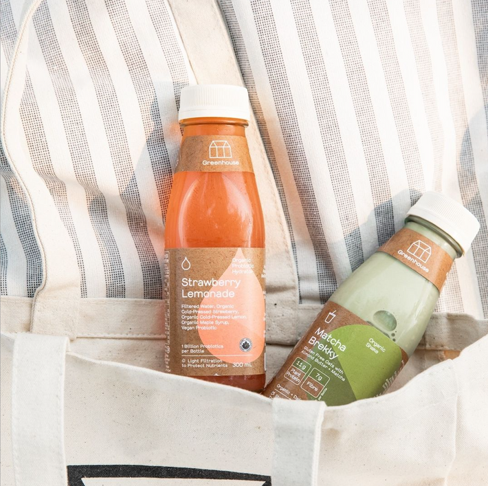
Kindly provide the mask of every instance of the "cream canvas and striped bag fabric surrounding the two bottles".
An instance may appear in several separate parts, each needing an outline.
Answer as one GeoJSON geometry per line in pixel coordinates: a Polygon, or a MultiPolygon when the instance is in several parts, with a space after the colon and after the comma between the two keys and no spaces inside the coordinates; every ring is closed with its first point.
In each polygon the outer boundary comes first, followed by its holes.
{"type": "Polygon", "coordinates": [[[2,2],[2,485],[487,483],[483,2],[398,5],[2,2]],[[194,82],[251,96],[269,377],[423,190],[482,223],[387,395],[325,408],[160,373],[194,82]]]}

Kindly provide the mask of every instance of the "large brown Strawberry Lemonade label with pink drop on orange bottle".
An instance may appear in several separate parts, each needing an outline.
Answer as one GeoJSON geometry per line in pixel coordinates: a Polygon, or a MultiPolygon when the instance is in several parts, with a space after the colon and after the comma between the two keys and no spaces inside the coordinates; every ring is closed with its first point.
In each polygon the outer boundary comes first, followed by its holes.
{"type": "Polygon", "coordinates": [[[168,373],[265,373],[264,248],[164,252],[168,373]]]}

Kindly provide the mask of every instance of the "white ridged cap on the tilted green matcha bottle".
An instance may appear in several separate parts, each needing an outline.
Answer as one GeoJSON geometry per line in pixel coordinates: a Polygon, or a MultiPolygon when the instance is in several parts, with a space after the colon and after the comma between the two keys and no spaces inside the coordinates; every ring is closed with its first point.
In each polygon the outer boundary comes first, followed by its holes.
{"type": "Polygon", "coordinates": [[[480,229],[478,219],[471,212],[440,192],[425,192],[407,216],[418,216],[436,225],[458,243],[463,253],[469,250],[480,229]]]}

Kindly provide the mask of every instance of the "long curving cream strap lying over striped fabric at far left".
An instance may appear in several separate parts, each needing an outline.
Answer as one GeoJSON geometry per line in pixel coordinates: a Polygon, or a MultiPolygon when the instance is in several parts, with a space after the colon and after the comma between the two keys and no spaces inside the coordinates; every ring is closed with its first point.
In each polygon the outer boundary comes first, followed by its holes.
{"type": "Polygon", "coordinates": [[[45,181],[25,153],[19,117],[27,73],[27,44],[34,35],[32,17],[41,2],[21,2],[19,29],[0,110],[0,138],[5,157],[27,199],[43,263],[43,281],[34,294],[30,330],[74,338],[82,300],[76,252],[45,181]]]}

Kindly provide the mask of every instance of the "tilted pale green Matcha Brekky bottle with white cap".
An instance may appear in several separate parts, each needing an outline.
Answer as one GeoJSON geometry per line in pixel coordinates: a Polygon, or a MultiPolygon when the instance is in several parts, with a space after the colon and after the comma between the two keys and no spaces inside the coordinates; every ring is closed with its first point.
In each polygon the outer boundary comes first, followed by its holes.
{"type": "Polygon", "coordinates": [[[334,292],[265,396],[333,406],[392,384],[425,332],[454,258],[480,227],[438,192],[425,192],[405,222],[334,292]]]}

